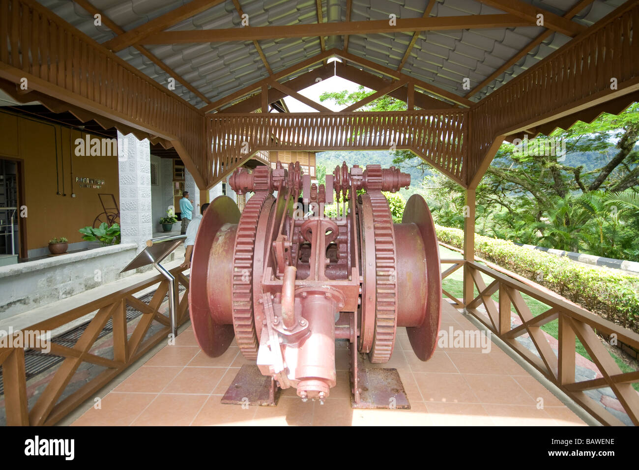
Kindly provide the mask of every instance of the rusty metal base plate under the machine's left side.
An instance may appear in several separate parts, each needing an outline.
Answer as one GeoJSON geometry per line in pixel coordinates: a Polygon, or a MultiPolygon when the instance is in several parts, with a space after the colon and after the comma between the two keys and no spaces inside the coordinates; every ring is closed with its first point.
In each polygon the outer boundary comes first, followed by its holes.
{"type": "Polygon", "coordinates": [[[258,366],[244,364],[237,373],[233,383],[222,396],[222,403],[227,405],[277,406],[280,388],[275,385],[273,377],[266,377],[259,372],[258,366]]]}

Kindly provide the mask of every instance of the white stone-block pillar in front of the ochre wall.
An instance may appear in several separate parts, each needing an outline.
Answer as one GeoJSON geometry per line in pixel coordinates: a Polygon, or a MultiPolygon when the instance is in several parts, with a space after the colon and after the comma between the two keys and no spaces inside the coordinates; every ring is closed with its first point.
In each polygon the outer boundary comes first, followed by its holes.
{"type": "Polygon", "coordinates": [[[148,139],[118,131],[118,175],[122,243],[137,243],[138,253],[153,238],[151,153],[148,139]]]}

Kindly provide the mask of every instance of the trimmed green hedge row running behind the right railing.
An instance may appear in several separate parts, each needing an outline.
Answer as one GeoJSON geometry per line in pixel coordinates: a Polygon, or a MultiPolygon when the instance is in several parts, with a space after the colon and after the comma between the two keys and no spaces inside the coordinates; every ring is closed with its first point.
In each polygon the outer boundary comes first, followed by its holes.
{"type": "MultiPolygon", "coordinates": [[[[438,238],[461,248],[464,232],[435,225],[438,238]]],[[[639,278],[594,269],[508,240],[475,234],[475,255],[531,279],[617,325],[639,333],[639,278]]]]}

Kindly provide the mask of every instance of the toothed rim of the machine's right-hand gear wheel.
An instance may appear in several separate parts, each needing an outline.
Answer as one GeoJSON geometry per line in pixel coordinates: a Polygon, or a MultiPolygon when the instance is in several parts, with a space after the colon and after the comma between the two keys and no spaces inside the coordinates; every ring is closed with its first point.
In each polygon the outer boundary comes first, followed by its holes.
{"type": "MultiPolygon", "coordinates": [[[[376,175],[371,175],[369,171],[369,178],[371,176],[376,175]]],[[[375,330],[369,359],[371,363],[385,363],[390,360],[393,352],[397,329],[395,234],[386,196],[380,191],[369,191],[367,194],[373,208],[376,273],[375,330]]]]}

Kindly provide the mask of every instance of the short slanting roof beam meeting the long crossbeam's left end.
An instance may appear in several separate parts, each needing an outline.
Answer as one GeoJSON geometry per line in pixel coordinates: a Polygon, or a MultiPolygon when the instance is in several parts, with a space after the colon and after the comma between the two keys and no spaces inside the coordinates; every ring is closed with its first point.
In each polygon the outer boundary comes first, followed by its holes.
{"type": "Polygon", "coordinates": [[[164,15],[160,17],[152,19],[135,29],[127,31],[123,35],[105,42],[103,45],[104,47],[107,47],[107,49],[111,49],[113,52],[121,51],[122,49],[139,42],[142,38],[148,35],[162,31],[167,27],[193,17],[198,13],[205,12],[217,4],[224,3],[224,1],[225,0],[192,0],[175,10],[171,10],[171,12],[164,13],[164,15]]]}

